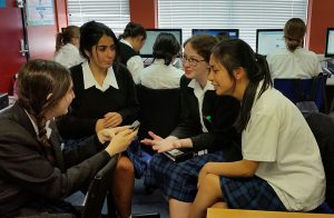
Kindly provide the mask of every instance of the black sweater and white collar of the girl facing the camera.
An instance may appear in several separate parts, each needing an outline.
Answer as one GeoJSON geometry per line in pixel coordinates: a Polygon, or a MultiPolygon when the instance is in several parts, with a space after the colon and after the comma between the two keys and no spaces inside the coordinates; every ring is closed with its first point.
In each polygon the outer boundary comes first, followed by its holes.
{"type": "Polygon", "coordinates": [[[108,112],[118,112],[122,125],[137,119],[139,102],[130,72],[122,65],[107,71],[102,86],[97,83],[88,61],[70,69],[76,98],[70,112],[57,122],[65,139],[81,139],[95,133],[98,119],[108,112]]]}

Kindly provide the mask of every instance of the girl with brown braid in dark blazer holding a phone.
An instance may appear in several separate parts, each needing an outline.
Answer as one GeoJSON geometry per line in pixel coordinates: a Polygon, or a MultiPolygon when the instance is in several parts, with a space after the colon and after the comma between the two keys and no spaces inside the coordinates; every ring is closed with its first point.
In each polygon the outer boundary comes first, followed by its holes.
{"type": "Polygon", "coordinates": [[[0,217],[75,217],[77,211],[63,198],[87,188],[137,132],[102,129],[65,150],[53,120],[67,113],[75,93],[69,71],[53,61],[27,62],[19,71],[18,96],[0,115],[0,217]]]}

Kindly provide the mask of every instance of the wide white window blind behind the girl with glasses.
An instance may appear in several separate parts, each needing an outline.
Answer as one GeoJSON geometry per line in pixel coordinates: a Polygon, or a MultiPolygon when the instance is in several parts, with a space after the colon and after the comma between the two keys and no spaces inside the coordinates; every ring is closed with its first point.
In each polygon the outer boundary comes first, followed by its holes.
{"type": "Polygon", "coordinates": [[[255,49],[256,29],[283,29],[297,17],[306,21],[307,0],[158,0],[158,27],[239,29],[239,38],[255,49]]]}

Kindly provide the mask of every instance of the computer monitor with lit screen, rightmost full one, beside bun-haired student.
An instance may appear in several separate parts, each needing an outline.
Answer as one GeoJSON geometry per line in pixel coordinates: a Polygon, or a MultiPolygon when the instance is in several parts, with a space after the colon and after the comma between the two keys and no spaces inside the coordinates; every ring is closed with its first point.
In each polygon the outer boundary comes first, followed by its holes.
{"type": "Polygon", "coordinates": [[[256,52],[263,56],[272,53],[276,49],[285,48],[283,29],[257,29],[256,52]]]}

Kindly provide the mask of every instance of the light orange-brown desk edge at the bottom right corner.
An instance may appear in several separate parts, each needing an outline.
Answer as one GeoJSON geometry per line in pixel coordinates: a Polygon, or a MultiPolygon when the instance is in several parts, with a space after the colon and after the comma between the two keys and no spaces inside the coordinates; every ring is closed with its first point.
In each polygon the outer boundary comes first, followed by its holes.
{"type": "Polygon", "coordinates": [[[207,218],[334,218],[334,215],[208,208],[207,218]]]}

